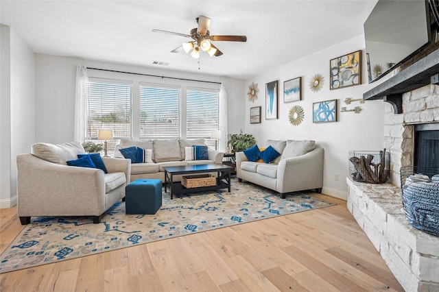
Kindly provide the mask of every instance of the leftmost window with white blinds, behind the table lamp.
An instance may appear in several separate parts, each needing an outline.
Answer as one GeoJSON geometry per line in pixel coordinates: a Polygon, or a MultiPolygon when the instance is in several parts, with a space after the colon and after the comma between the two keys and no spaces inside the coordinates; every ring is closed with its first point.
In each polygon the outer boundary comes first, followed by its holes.
{"type": "MultiPolygon", "coordinates": [[[[131,97],[132,84],[89,80],[86,140],[95,140],[99,129],[112,129],[115,139],[132,138],[131,97]]],[[[108,141],[108,154],[118,142],[108,141]]]]}

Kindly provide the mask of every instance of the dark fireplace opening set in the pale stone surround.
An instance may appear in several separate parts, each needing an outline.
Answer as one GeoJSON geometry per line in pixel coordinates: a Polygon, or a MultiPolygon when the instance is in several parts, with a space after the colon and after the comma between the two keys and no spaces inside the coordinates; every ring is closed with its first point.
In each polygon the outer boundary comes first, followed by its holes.
{"type": "Polygon", "coordinates": [[[420,173],[439,169],[439,123],[414,127],[414,166],[420,173]]]}

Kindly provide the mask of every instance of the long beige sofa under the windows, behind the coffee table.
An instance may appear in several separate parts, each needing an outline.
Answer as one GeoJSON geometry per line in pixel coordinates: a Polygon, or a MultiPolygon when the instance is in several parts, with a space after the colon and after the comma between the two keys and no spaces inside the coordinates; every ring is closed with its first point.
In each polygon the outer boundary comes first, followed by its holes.
{"type": "MultiPolygon", "coordinates": [[[[127,147],[141,147],[150,150],[151,158],[148,162],[131,164],[131,181],[137,179],[155,178],[165,182],[163,167],[176,167],[185,165],[206,165],[222,163],[224,153],[208,148],[207,160],[191,160],[187,157],[186,148],[193,145],[206,145],[204,139],[151,139],[151,140],[128,140],[122,139],[116,146],[115,158],[124,158],[119,149],[127,147]]],[[[215,174],[215,173],[214,173],[215,174]]],[[[174,177],[181,180],[180,175],[174,177]]]]}

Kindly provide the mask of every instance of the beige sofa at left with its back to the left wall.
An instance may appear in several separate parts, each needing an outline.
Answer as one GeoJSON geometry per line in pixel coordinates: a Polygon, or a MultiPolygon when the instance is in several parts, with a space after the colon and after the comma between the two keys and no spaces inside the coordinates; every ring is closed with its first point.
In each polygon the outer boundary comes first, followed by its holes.
{"type": "Polygon", "coordinates": [[[73,167],[67,160],[84,154],[79,142],[32,145],[32,154],[16,157],[18,214],[27,224],[32,216],[91,216],[103,213],[125,197],[130,182],[129,159],[103,158],[101,169],[73,167]]]}

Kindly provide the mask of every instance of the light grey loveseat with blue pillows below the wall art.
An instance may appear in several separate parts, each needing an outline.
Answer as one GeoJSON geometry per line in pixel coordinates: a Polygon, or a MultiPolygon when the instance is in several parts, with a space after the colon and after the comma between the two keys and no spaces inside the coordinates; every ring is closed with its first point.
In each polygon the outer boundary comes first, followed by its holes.
{"type": "Polygon", "coordinates": [[[270,188],[285,198],[286,193],[315,189],[321,193],[323,186],[322,147],[314,141],[268,140],[281,154],[271,163],[248,161],[244,152],[236,153],[236,170],[239,181],[246,180],[270,188]]]}

